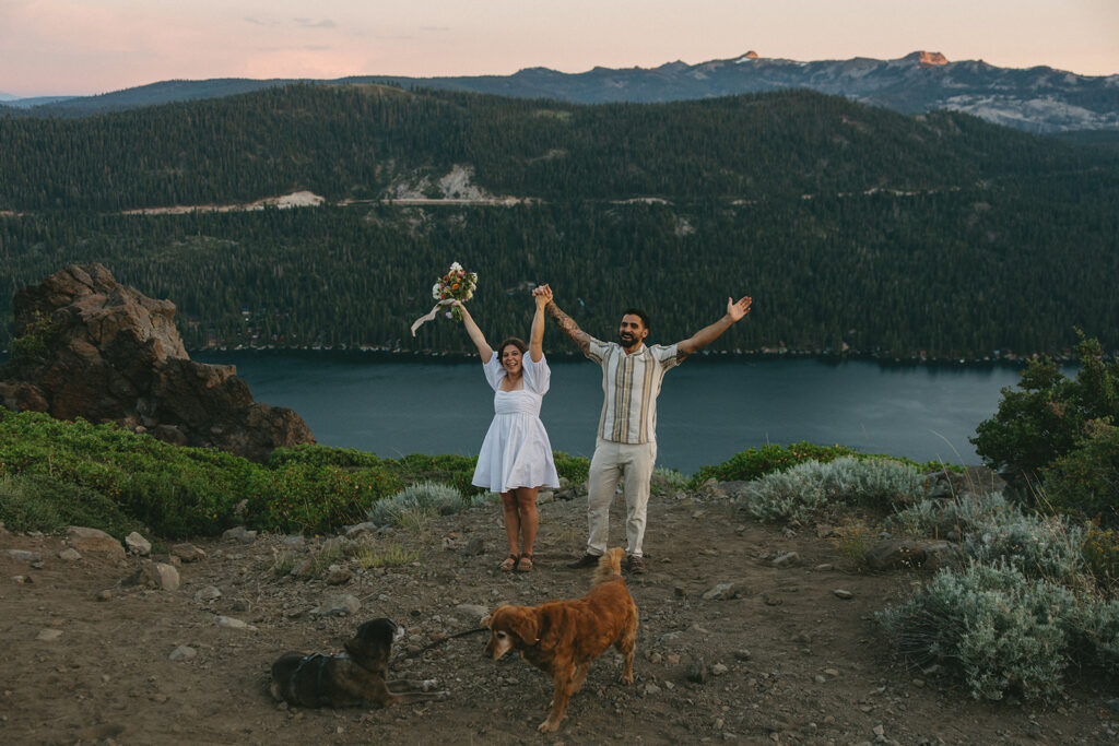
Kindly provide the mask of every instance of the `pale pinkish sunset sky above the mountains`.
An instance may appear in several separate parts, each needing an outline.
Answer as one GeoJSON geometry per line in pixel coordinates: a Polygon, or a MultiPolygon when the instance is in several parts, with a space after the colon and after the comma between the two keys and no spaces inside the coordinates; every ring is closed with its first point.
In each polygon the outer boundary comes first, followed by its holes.
{"type": "Polygon", "coordinates": [[[0,92],[915,50],[1119,74],[1119,0],[0,0],[0,92]]]}

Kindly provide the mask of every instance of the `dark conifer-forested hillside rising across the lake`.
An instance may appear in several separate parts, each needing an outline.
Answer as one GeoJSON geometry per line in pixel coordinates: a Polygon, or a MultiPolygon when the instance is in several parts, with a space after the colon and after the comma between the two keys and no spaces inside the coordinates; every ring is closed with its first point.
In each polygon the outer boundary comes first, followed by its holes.
{"type": "Polygon", "coordinates": [[[595,332],[645,304],[661,339],[751,293],[716,349],[1060,353],[1073,327],[1119,344],[1119,159],[961,114],[806,91],[581,106],[291,86],[2,119],[0,138],[0,303],[102,262],[173,301],[192,348],[464,349],[449,324],[406,331],[452,261],[480,272],[493,334],[551,282],[595,332]],[[327,205],[126,214],[294,191],[327,205]]]}

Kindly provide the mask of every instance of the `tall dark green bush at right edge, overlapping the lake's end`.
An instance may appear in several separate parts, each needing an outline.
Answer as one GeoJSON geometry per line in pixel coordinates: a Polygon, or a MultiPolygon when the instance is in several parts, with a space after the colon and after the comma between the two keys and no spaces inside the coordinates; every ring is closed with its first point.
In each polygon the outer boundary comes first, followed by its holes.
{"type": "Polygon", "coordinates": [[[1004,388],[998,412],[976,427],[976,452],[1017,489],[1035,487],[1046,466],[1089,435],[1092,421],[1119,422],[1119,362],[1106,363],[1099,341],[1083,336],[1076,355],[1074,380],[1053,360],[1032,361],[1019,390],[1004,388]]]}

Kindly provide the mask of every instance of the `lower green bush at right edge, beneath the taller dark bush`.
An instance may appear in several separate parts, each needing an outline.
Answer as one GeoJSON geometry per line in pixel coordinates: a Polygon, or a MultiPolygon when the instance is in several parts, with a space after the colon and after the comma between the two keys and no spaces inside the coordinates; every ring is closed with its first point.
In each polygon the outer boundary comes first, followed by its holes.
{"type": "Polygon", "coordinates": [[[1057,510],[1119,527],[1119,427],[1093,421],[1087,431],[1043,470],[1045,497],[1057,510]]]}

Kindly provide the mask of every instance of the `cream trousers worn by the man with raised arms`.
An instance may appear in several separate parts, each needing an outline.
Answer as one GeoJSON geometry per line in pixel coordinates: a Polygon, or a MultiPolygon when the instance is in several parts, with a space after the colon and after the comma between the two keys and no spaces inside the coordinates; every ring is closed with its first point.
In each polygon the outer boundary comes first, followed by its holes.
{"type": "Polygon", "coordinates": [[[618,483],[624,480],[626,554],[641,556],[645,519],[649,507],[649,480],[657,460],[657,444],[614,443],[598,438],[587,479],[586,519],[590,539],[586,551],[604,555],[610,539],[610,501],[618,483]]]}

